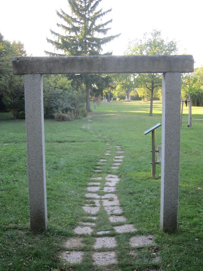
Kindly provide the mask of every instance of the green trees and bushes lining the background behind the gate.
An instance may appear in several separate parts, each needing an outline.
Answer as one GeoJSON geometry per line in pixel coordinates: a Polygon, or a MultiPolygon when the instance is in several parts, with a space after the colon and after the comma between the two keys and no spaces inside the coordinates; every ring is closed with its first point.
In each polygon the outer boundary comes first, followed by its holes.
{"type": "MultiPolygon", "coordinates": [[[[51,31],[54,39],[47,42],[54,52],[47,55],[112,55],[103,53],[102,46],[120,34],[108,35],[112,19],[103,21],[111,9],[99,8],[102,0],[68,0],[71,14],[62,9],[57,11],[63,23],[57,23],[59,32],[51,31]]],[[[145,33],[140,40],[128,44],[125,55],[174,55],[178,47],[175,40],[164,40],[161,31],[145,33]]],[[[10,42],[0,33],[0,111],[12,111],[13,118],[24,117],[23,76],[15,76],[11,69],[13,56],[26,56],[23,44],[10,42]]],[[[72,74],[44,76],[45,117],[66,119],[82,117],[91,112],[90,99],[106,96],[108,101],[119,98],[150,100],[152,116],[153,100],[161,99],[161,74],[72,74]]],[[[192,74],[182,75],[182,98],[188,95],[195,106],[203,106],[203,67],[192,74]]]]}

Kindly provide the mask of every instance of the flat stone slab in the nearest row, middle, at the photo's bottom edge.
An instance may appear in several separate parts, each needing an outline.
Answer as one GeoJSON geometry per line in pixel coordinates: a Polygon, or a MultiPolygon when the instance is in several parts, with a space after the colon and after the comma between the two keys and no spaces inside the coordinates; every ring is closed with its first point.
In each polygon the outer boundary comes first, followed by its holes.
{"type": "Polygon", "coordinates": [[[108,265],[116,263],[115,251],[95,252],[92,254],[95,265],[108,265]]]}

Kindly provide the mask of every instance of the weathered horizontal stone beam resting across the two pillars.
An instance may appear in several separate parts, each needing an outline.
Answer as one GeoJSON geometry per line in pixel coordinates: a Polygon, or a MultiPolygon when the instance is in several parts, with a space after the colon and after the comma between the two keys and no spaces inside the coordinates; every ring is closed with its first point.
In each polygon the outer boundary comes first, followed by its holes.
{"type": "Polygon", "coordinates": [[[14,57],[14,74],[188,73],[192,55],[14,57]]]}

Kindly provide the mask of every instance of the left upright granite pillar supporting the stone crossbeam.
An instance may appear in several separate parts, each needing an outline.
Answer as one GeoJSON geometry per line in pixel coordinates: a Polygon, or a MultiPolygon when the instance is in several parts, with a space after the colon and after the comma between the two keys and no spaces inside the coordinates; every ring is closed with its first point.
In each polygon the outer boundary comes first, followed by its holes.
{"type": "Polygon", "coordinates": [[[47,228],[43,81],[41,74],[26,74],[25,117],[29,186],[30,228],[47,228]]]}

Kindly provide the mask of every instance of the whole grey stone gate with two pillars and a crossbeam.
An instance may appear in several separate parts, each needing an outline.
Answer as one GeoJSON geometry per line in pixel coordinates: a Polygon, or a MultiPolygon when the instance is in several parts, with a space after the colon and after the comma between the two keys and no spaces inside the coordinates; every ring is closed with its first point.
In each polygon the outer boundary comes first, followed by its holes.
{"type": "Polygon", "coordinates": [[[24,75],[31,230],[47,229],[42,76],[62,73],[163,73],[160,224],[177,229],[181,73],[194,71],[191,55],[15,57],[12,65],[24,75]]]}

